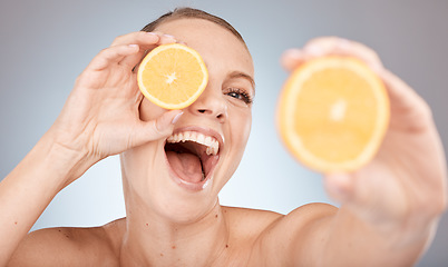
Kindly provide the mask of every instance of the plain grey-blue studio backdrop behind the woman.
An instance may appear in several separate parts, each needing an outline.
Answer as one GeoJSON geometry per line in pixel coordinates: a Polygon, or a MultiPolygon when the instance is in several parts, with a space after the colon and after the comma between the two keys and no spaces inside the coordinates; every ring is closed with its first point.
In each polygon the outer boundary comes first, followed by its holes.
{"type": "MultiPolygon", "coordinates": [[[[240,169],[221,194],[223,205],[288,214],[308,202],[331,202],[320,175],[288,155],[274,128],[286,78],[279,57],[318,36],[341,36],[376,49],[429,102],[447,150],[448,1],[1,0],[0,179],[51,126],[76,77],[100,49],[177,6],[228,20],[255,61],[252,136],[240,169]]],[[[119,162],[113,157],[64,189],[33,229],[97,226],[123,216],[119,162]]],[[[447,215],[419,266],[448,266],[447,215]]]]}

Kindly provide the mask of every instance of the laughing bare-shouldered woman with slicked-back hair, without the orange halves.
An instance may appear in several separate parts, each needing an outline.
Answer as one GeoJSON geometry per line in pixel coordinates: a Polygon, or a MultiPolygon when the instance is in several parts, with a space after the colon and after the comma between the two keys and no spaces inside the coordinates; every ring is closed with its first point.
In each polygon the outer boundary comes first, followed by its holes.
{"type": "Polygon", "coordinates": [[[371,164],[325,177],[340,209],[312,204],[283,216],[217,199],[251,126],[254,70],[241,36],[193,9],[145,31],[118,37],[92,59],[53,126],[0,184],[0,265],[408,266],[425,251],[446,207],[446,161],[428,106],[373,51],[321,38],[284,55],[289,70],[330,53],[364,60],[388,87],[392,118],[371,164]],[[142,97],[134,70],[146,50],[176,41],[202,55],[210,81],[192,106],[166,111],[142,97]],[[185,145],[166,140],[179,134],[210,137],[217,154],[202,156],[195,141],[187,146],[197,155],[178,154],[185,145]],[[116,154],[126,218],[27,235],[58,191],[116,154]]]}

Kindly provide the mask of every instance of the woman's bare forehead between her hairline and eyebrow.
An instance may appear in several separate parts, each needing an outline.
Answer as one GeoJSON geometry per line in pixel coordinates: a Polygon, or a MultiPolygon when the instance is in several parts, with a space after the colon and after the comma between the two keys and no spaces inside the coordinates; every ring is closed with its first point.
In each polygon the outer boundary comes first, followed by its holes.
{"type": "Polygon", "coordinates": [[[230,30],[203,19],[175,19],[163,22],[155,31],[171,34],[201,53],[208,68],[216,65],[253,77],[252,57],[245,44],[230,30]]]}

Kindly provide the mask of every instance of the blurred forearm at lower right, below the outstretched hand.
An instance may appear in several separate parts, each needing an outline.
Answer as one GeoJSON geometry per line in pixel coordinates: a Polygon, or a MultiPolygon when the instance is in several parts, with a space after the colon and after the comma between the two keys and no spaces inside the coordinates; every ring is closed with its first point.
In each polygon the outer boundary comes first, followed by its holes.
{"type": "Polygon", "coordinates": [[[412,266],[432,238],[437,222],[421,229],[379,228],[341,208],[329,221],[319,266],[412,266]]]}

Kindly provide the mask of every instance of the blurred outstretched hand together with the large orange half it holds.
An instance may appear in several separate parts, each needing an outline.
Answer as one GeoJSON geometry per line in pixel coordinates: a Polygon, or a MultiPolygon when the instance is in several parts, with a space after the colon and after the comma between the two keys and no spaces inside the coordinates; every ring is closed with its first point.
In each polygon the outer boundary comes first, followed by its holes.
{"type": "Polygon", "coordinates": [[[356,41],[313,39],[282,63],[295,71],[280,97],[280,135],[299,160],[324,172],[327,192],[341,204],[339,226],[360,221],[400,246],[427,243],[447,202],[429,105],[356,41]]]}

